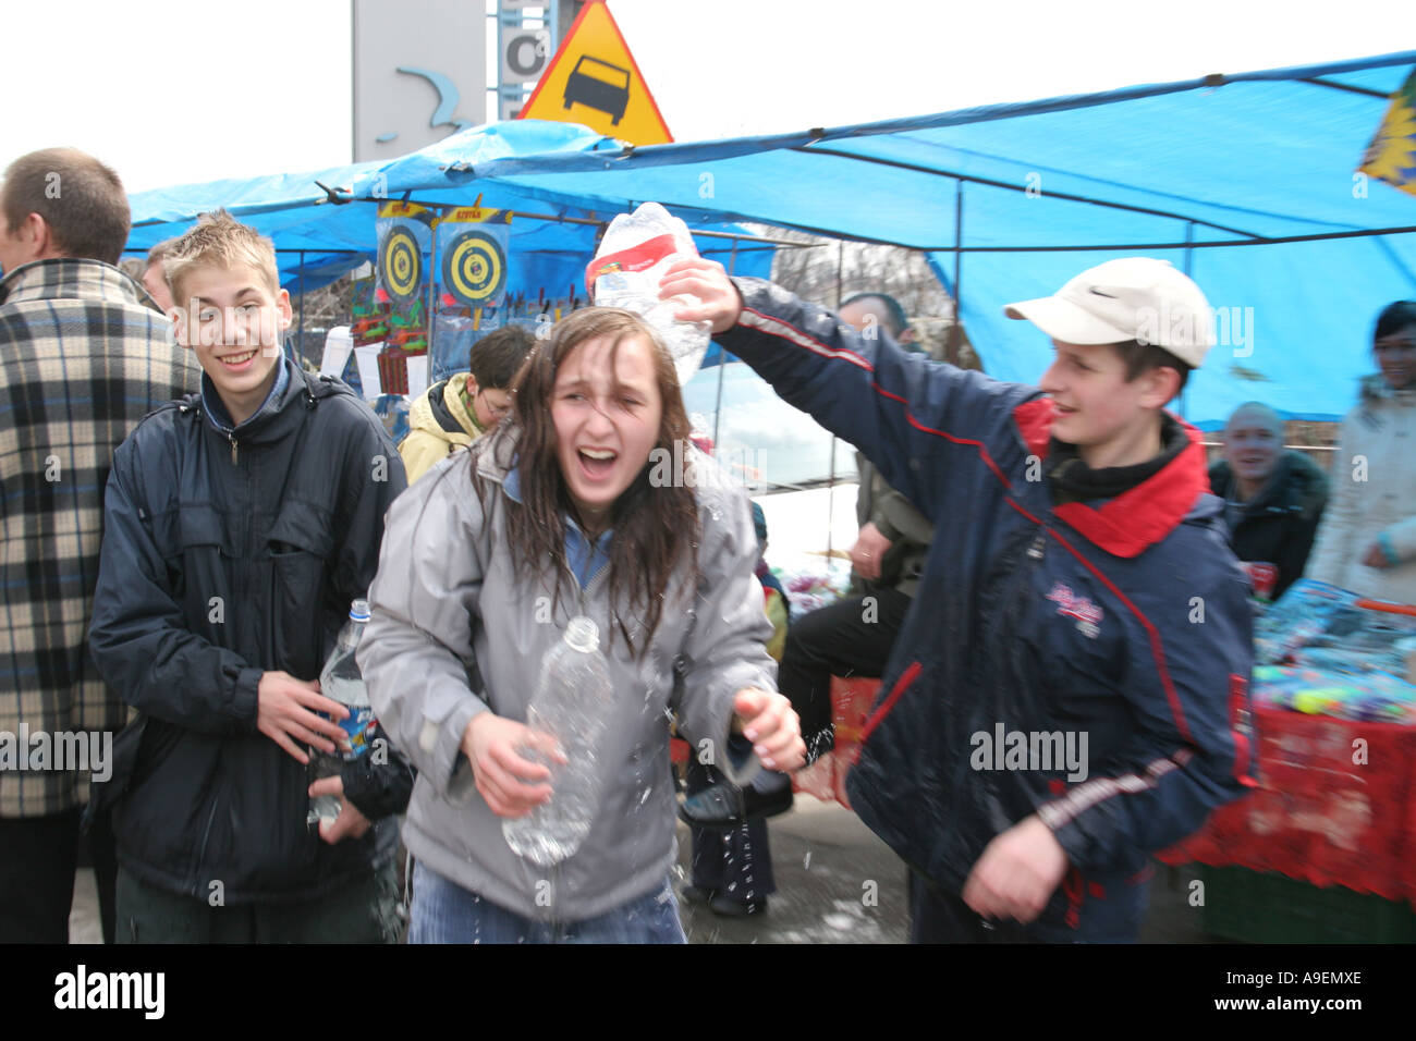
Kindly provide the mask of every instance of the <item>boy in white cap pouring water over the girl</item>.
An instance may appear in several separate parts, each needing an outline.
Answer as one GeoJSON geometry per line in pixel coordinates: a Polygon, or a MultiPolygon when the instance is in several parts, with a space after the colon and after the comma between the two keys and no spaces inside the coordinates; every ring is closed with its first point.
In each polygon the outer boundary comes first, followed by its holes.
{"type": "Polygon", "coordinates": [[[1039,387],[867,339],[685,261],[664,297],[935,524],[848,793],[912,870],[912,939],[1134,940],[1150,854],[1250,778],[1250,608],[1199,433],[1164,411],[1214,343],[1170,263],[1010,305],[1039,387]]]}

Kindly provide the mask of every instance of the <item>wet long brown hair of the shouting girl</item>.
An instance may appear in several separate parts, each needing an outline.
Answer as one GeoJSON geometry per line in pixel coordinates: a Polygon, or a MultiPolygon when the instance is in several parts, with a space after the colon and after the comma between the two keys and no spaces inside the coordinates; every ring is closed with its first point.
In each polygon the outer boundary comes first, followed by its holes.
{"type": "MultiPolygon", "coordinates": [[[[619,358],[619,347],[626,340],[641,339],[654,358],[654,378],[663,402],[656,448],[674,456],[674,442],[680,442],[683,456],[688,455],[688,414],[678,389],[674,364],[658,334],[637,314],[617,307],[586,307],[558,322],[547,339],[538,340],[515,380],[511,382],[513,411],[490,442],[517,432],[517,469],[521,472],[521,503],[506,500],[507,535],[511,561],[518,578],[537,581],[549,578],[555,602],[569,589],[572,575],[565,555],[565,517],[575,516],[565,477],[556,459],[556,432],[551,418],[555,378],[572,350],[581,344],[607,337],[609,364],[619,358]]],[[[653,459],[653,453],[651,453],[653,459]]],[[[684,457],[684,467],[691,466],[684,457]]],[[[630,653],[641,656],[649,647],[663,618],[668,582],[675,565],[688,561],[685,593],[697,591],[698,542],[701,537],[698,506],[687,482],[671,480],[650,484],[651,462],[646,462],[630,486],[610,507],[610,527],[615,534],[609,547],[610,603],[620,603],[627,593],[630,609],[643,620],[641,643],[616,619],[630,653]]],[[[483,501],[489,489],[473,467],[473,483],[483,501]]],[[[613,632],[610,633],[613,640],[613,632]]]]}

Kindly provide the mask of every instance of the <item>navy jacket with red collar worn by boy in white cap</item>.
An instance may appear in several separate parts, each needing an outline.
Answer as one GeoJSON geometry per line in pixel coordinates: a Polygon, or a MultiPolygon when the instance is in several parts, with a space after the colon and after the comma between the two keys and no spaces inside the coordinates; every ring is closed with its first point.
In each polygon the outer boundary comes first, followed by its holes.
{"type": "Polygon", "coordinates": [[[1078,901],[1141,878],[1151,851],[1253,785],[1252,610],[1221,501],[1204,493],[1198,432],[1130,491],[1054,506],[1046,466],[1029,466],[1052,423],[1037,388],[735,282],[745,309],[724,347],[935,524],[851,804],[953,894],[995,836],[1037,814],[1072,867],[1038,925],[1076,921],[1078,901]],[[1021,762],[1012,734],[1028,742],[1021,762]],[[1070,735],[1078,753],[1085,735],[1083,770],[1059,766],[1046,735],[1070,735]]]}

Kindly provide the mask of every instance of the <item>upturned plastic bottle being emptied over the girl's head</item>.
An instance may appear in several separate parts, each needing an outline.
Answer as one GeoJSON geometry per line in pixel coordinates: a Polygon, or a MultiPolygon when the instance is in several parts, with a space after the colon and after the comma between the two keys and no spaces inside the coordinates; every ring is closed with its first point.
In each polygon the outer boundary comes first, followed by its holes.
{"type": "Polygon", "coordinates": [[[711,326],[678,322],[675,310],[700,302],[687,293],[660,300],[658,280],[678,261],[697,256],[688,225],[658,203],[644,203],[633,214],[610,221],[595,259],[585,269],[595,306],[632,310],[658,333],[674,361],[680,387],[698,371],[708,351],[711,326]]]}

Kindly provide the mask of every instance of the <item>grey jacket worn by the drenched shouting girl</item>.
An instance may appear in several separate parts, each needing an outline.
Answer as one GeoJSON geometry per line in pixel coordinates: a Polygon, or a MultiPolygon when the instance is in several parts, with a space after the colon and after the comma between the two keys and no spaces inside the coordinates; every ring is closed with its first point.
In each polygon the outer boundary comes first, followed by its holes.
{"type": "MultiPolygon", "coordinates": [[[[609,602],[607,565],[583,591],[568,575],[572,592],[558,603],[548,576],[514,574],[506,518],[517,507],[503,483],[514,453],[514,431],[503,428],[438,463],[389,508],[358,664],[379,721],[419,772],[404,827],[413,857],[524,918],[573,922],[663,885],[674,863],[670,717],[677,710],[695,749],[725,748],[733,694],[776,690],[765,649],[772,626],[753,576],[746,496],[725,483],[698,487],[702,579],[683,596],[688,565],[680,564],[647,653],[632,657],[622,637],[607,639],[615,618],[632,633],[639,620],[609,602]],[[493,483],[486,508],[473,466],[493,483]],[[615,715],[599,812],[576,854],[552,871],[507,846],[460,744],[479,712],[525,722],[541,661],[576,613],[602,633],[615,715]]],[[[704,456],[695,466],[721,474],[704,456]]]]}

